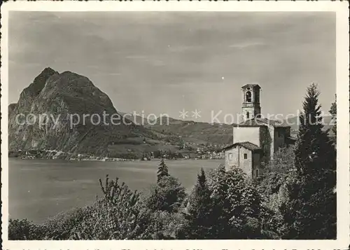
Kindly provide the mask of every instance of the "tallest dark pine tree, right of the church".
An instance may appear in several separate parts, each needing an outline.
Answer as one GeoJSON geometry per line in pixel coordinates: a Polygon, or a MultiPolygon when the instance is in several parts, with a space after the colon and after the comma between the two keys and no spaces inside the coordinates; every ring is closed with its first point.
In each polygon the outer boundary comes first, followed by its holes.
{"type": "Polygon", "coordinates": [[[336,152],[321,124],[316,85],[307,89],[295,148],[295,178],[281,207],[288,239],[336,237],[336,152]]]}

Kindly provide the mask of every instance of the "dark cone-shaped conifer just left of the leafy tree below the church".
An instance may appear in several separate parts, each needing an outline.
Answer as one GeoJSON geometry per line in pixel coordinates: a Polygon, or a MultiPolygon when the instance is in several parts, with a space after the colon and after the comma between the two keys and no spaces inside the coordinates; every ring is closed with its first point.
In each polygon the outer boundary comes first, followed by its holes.
{"type": "Polygon", "coordinates": [[[197,176],[197,183],[188,200],[186,226],[183,236],[186,239],[210,239],[213,237],[212,228],[216,224],[213,215],[211,191],[207,185],[204,170],[197,176]]]}

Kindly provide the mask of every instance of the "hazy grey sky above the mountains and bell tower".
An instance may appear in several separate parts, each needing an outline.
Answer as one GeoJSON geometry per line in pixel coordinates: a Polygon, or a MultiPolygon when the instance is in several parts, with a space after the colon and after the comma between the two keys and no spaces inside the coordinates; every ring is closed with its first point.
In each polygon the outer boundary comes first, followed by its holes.
{"type": "Polygon", "coordinates": [[[123,112],[223,122],[247,83],[264,116],[296,114],[311,83],[327,112],[335,48],[335,13],[11,12],[9,102],[51,67],[87,76],[123,112]]]}

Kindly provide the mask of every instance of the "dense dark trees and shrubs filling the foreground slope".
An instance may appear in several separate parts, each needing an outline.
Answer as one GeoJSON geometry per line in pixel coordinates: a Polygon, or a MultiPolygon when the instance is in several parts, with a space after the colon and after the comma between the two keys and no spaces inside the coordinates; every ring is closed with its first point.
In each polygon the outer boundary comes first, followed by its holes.
{"type": "Polygon", "coordinates": [[[280,148],[258,180],[201,169],[189,195],[160,162],[148,193],[99,180],[102,197],[41,225],[10,220],[9,239],[335,239],[336,151],[323,132],[315,85],[295,147],[280,148]]]}

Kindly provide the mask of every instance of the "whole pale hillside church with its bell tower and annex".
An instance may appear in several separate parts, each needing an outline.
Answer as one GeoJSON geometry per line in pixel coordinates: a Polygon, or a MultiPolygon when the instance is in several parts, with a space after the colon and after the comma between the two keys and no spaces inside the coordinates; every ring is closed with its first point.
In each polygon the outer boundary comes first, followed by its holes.
{"type": "Polygon", "coordinates": [[[262,173],[262,162],[272,160],[279,148],[295,141],[290,126],[261,117],[260,89],[258,84],[241,87],[243,121],[233,125],[232,144],[223,148],[225,169],[239,167],[252,179],[262,173]]]}

